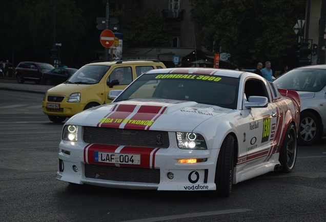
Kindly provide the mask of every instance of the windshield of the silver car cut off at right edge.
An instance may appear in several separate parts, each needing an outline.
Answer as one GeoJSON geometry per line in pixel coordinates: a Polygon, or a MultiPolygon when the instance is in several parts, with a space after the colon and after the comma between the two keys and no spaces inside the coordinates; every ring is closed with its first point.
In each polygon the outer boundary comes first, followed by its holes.
{"type": "Polygon", "coordinates": [[[296,91],[320,91],[326,84],[326,69],[293,69],[274,80],[277,88],[296,91]]]}

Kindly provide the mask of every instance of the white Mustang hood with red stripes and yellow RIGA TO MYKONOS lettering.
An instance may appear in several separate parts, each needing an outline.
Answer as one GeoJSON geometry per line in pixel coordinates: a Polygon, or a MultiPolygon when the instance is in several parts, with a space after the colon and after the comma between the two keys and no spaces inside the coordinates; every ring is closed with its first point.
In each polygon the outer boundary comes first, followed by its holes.
{"type": "Polygon", "coordinates": [[[191,132],[202,122],[229,112],[232,109],[190,101],[133,99],[84,110],[66,124],[191,132]]]}

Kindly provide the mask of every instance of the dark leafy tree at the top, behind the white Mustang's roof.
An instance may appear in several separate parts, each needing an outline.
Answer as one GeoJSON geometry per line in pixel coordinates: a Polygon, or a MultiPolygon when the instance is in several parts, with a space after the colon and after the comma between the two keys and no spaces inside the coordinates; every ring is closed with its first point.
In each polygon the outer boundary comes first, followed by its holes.
{"type": "Polygon", "coordinates": [[[297,41],[293,25],[304,16],[304,0],[189,0],[200,44],[231,53],[239,65],[278,63],[297,41]]]}

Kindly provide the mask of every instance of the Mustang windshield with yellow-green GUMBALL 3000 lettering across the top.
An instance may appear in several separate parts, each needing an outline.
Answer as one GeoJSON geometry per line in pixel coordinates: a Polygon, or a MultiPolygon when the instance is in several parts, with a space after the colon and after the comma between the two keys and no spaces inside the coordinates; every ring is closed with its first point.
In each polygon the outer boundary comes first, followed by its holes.
{"type": "Polygon", "coordinates": [[[239,79],[208,75],[145,74],[135,80],[115,102],[133,98],[187,100],[236,108],[239,79]]]}

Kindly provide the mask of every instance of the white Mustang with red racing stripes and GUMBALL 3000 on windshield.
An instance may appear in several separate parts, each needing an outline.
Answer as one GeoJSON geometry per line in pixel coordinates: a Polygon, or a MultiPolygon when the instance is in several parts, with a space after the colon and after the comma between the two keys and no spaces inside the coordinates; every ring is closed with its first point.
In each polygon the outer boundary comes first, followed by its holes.
{"type": "Polygon", "coordinates": [[[154,69],[108,97],[65,123],[57,179],[229,196],[232,184],[294,168],[298,94],[253,73],[154,69]]]}

